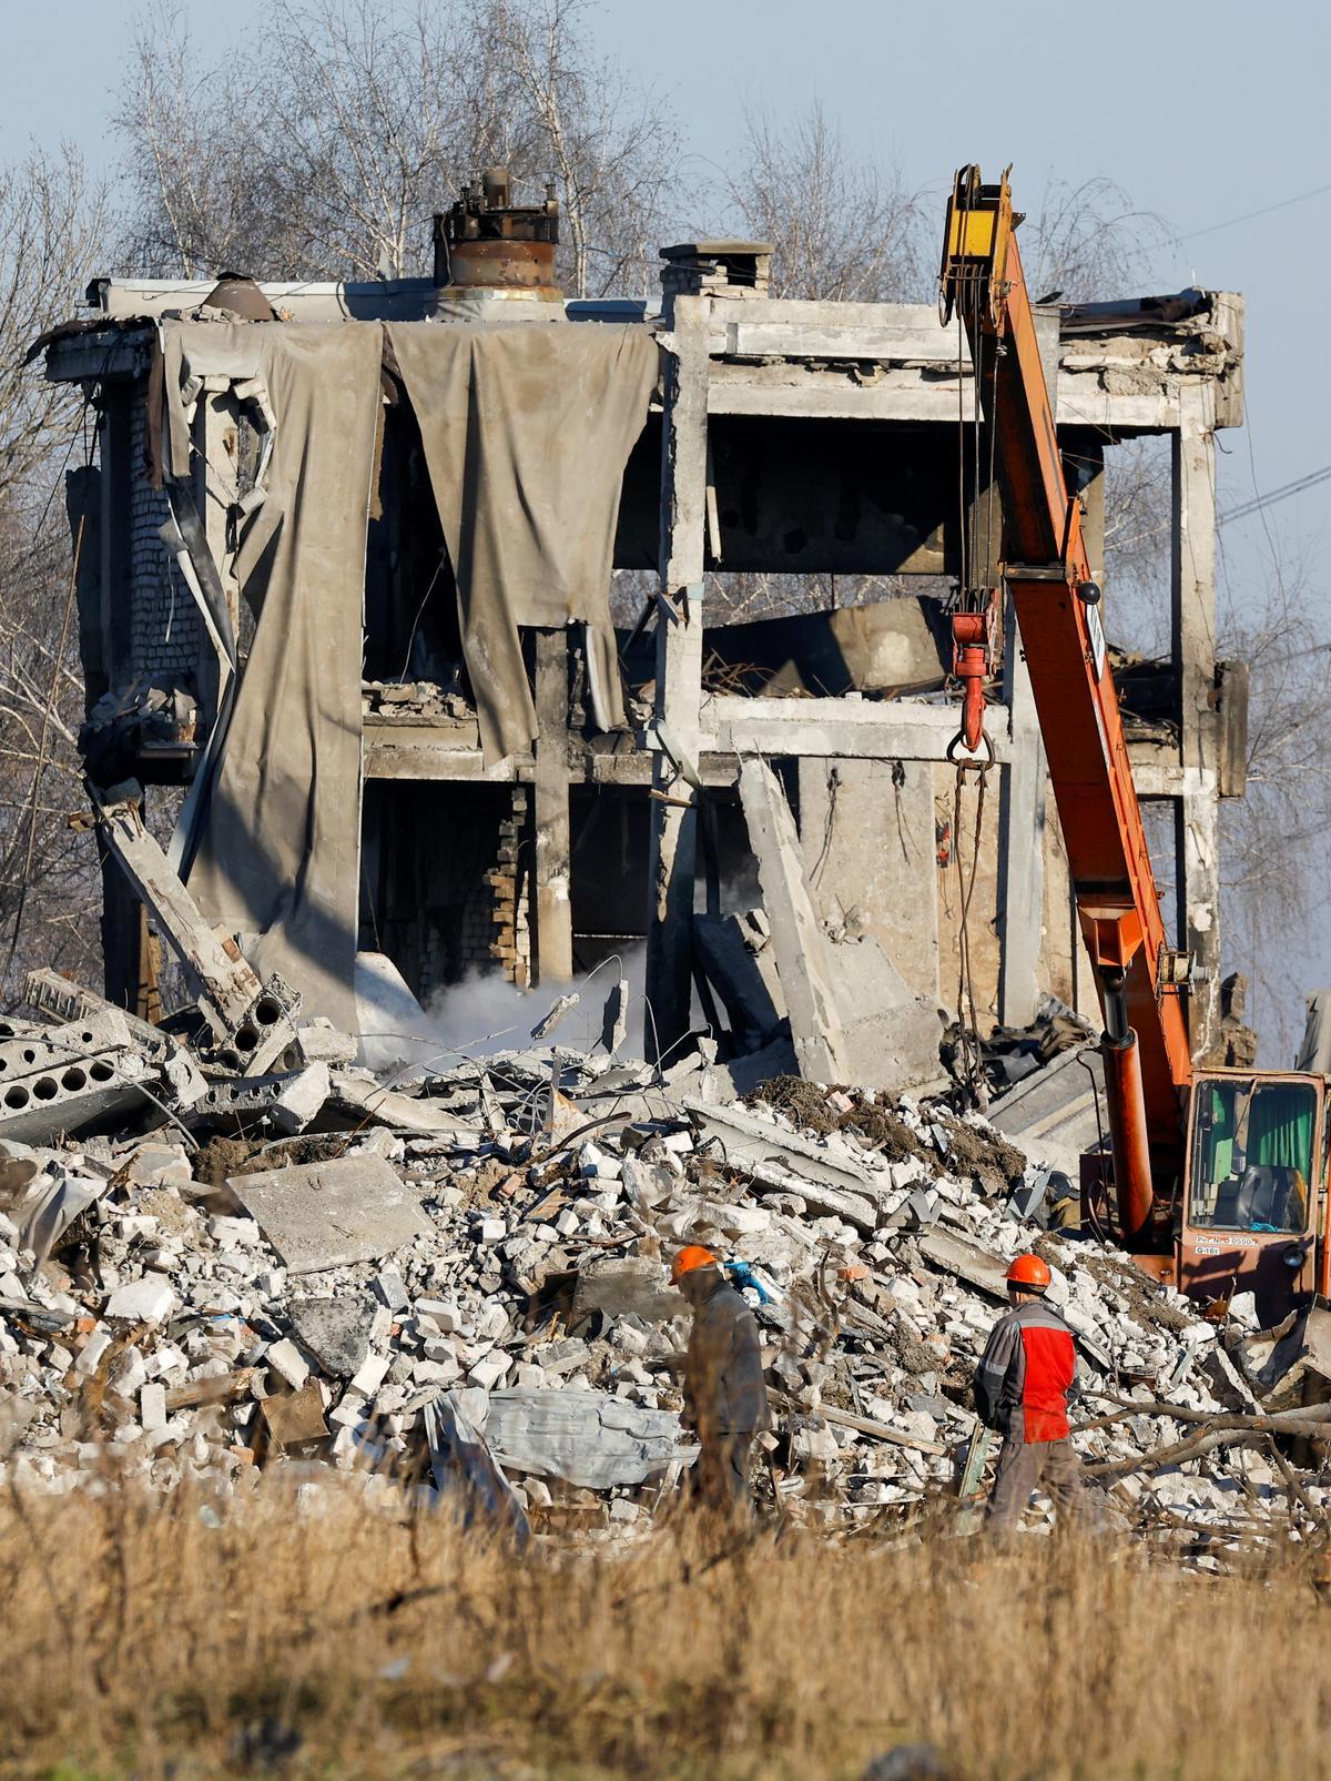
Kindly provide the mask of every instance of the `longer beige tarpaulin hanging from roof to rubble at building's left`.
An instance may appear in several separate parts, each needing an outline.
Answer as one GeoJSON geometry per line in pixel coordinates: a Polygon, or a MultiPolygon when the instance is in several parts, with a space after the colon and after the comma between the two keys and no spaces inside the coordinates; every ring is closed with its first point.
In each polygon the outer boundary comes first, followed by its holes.
{"type": "MultiPolygon", "coordinates": [[[[356,1031],[361,604],[383,335],[281,322],[165,324],[167,467],[190,472],[196,379],[262,385],[267,499],[235,573],[258,625],[190,873],[203,912],[263,935],[311,1013],[356,1031]]],[[[238,394],[238,392],[237,392],[238,394]]]]}

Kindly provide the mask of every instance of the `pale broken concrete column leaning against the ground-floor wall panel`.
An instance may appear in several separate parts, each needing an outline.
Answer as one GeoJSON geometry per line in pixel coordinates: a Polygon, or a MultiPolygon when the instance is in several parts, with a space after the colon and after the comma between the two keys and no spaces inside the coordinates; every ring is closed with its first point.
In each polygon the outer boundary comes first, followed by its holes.
{"type": "Polygon", "coordinates": [[[765,760],[746,760],[740,768],[740,801],[749,844],[758,857],[758,883],[801,1074],[820,1083],[842,1083],[849,1069],[827,939],[810,894],[795,819],[781,782],[765,760]]]}

